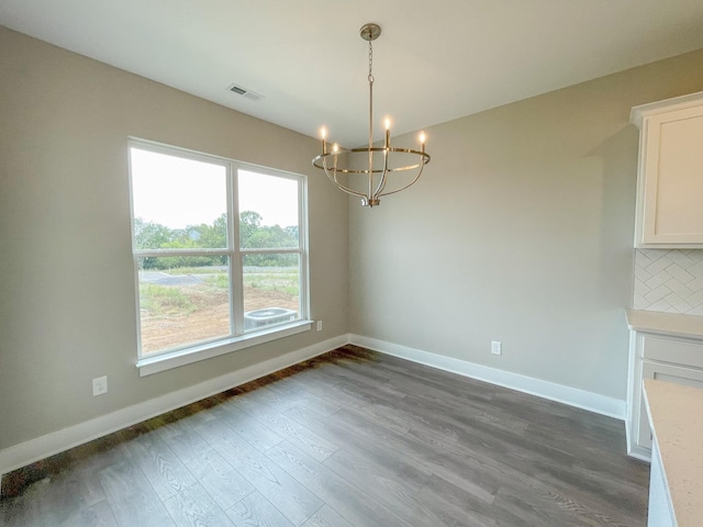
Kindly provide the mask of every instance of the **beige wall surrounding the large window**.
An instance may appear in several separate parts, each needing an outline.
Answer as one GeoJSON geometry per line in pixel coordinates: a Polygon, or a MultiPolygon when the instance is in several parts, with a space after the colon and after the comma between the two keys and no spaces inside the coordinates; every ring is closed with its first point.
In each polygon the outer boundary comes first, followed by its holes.
{"type": "Polygon", "coordinates": [[[346,333],[347,202],[315,141],[3,27],[0,49],[0,449],[346,333]],[[309,175],[324,330],[140,378],[127,136],[309,175]]]}

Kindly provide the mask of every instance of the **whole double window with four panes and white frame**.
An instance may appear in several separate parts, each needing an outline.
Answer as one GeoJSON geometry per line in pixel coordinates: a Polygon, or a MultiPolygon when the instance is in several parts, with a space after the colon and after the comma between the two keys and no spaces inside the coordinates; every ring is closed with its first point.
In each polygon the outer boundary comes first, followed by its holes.
{"type": "Polygon", "coordinates": [[[130,177],[137,366],[310,327],[303,177],[142,141],[130,177]]]}

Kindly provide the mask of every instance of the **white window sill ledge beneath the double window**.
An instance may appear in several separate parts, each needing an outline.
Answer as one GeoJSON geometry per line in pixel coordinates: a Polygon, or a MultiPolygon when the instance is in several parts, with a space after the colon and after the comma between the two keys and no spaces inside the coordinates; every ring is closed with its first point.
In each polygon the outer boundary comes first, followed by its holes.
{"type": "Polygon", "coordinates": [[[220,340],[217,343],[180,349],[170,354],[157,355],[155,357],[145,357],[137,360],[136,367],[140,369],[140,377],[150,375],[153,373],[158,373],[159,371],[179,368],[200,360],[230,354],[238,349],[249,348],[259,344],[270,343],[271,340],[309,332],[311,328],[312,321],[297,321],[292,324],[274,327],[266,332],[242,335],[235,338],[220,340]]]}

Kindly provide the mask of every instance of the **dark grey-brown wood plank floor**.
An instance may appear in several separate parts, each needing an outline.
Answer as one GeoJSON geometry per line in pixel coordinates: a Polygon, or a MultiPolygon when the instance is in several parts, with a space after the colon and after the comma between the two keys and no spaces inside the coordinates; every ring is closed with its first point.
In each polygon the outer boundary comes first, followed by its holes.
{"type": "Polygon", "coordinates": [[[3,526],[644,526],[622,422],[347,346],[11,474],[3,526]]]}

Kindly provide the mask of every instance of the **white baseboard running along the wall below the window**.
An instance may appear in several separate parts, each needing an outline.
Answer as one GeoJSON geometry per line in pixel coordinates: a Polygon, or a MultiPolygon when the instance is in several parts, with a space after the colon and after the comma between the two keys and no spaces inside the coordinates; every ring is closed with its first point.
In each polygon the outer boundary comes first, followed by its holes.
{"type": "Polygon", "coordinates": [[[47,434],[0,450],[0,475],[26,467],[42,459],[149,419],[165,412],[186,406],[231,388],[259,379],[349,343],[349,335],[341,335],[264,362],[183,388],[156,399],[112,412],[94,419],[47,434]]]}

